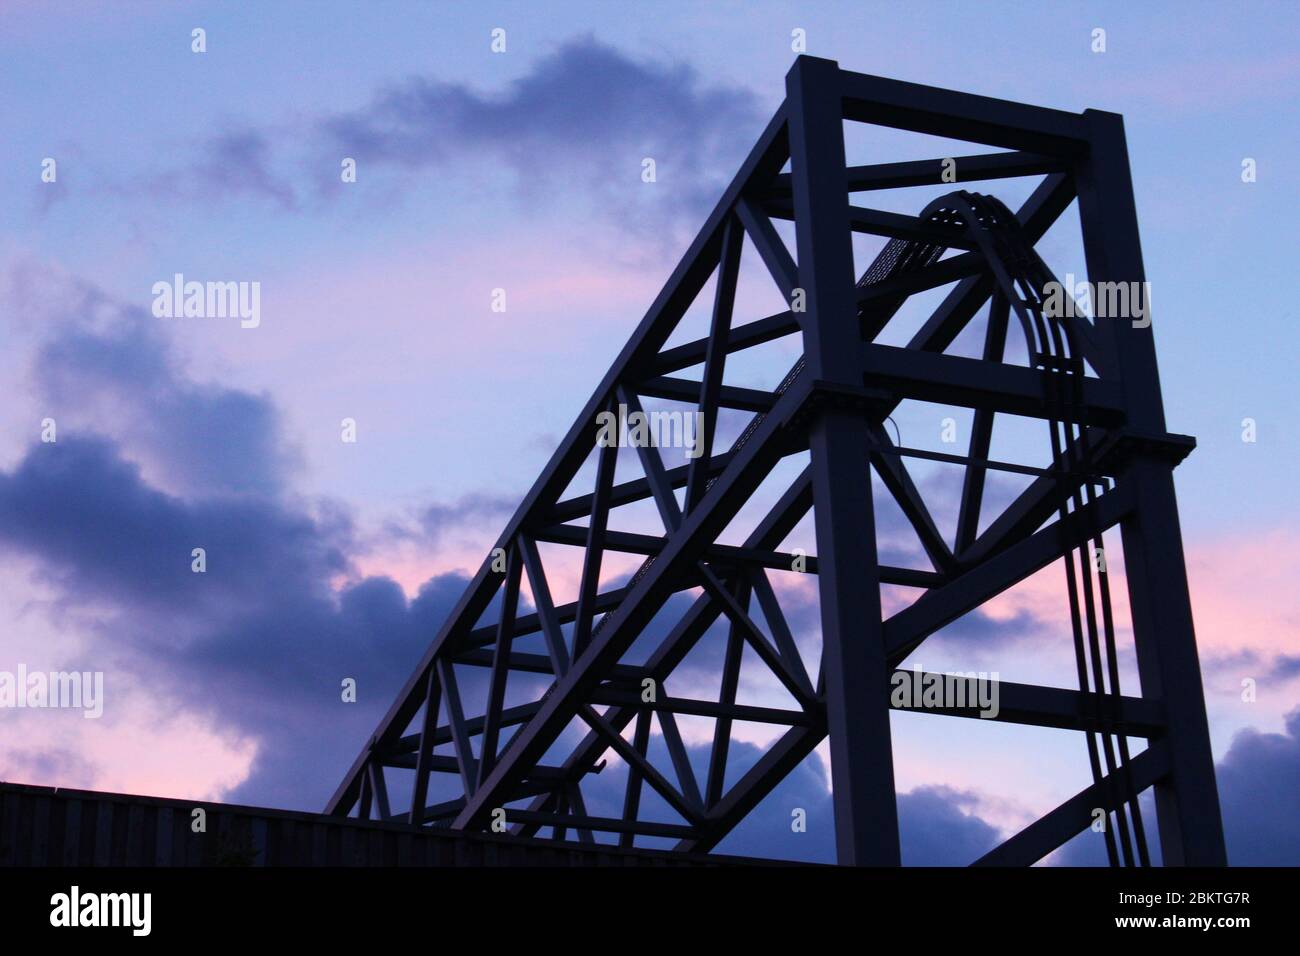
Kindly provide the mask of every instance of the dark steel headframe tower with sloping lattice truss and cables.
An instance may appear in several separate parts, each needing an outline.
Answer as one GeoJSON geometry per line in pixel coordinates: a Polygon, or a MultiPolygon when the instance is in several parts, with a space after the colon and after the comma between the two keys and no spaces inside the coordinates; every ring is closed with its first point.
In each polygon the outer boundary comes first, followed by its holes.
{"type": "MultiPolygon", "coordinates": [[[[508,826],[558,839],[572,831],[580,840],[616,839],[625,847],[670,839],[681,851],[707,852],[828,739],[838,861],[896,865],[894,669],[930,635],[1062,562],[1079,689],[1002,683],[997,719],[1080,731],[1093,783],[976,862],[1032,864],[1088,829],[1102,809],[1112,862],[1145,864],[1136,795],[1153,787],[1164,862],[1225,864],[1173,483],[1174,466],[1193,442],[1166,432],[1149,323],[1044,308],[1052,274],[1034,246],[1074,200],[1089,281],[1143,284],[1118,114],[1044,109],[800,57],[786,77],[785,101],[326,812],[458,830],[508,826]],[[888,213],[852,196],[933,186],[950,166],[940,159],[849,166],[845,121],[1004,152],[953,157],[961,187],[920,216],[888,213]],[[1015,212],[965,189],[1030,176],[1041,182],[1015,212]],[[783,219],[793,221],[793,250],[774,226],[783,219]],[[857,281],[853,233],[888,238],[857,281]],[[745,237],[792,308],[733,323],[745,237]],[[666,347],[710,280],[707,337],[666,347]],[[906,347],[875,341],[909,297],[954,282],[906,347]],[[946,354],[985,306],[983,356],[946,354]],[[1004,360],[1009,328],[1024,336],[1026,365],[1004,360]],[[802,358],[775,390],[723,384],[729,356],[793,336],[802,339],[802,358]],[[703,369],[698,378],[675,375],[697,365],[703,369]],[[598,446],[598,416],[619,405],[640,410],[642,397],[693,403],[705,424],[703,454],[667,467],[656,449],[638,447],[644,475],[616,483],[616,449],[598,446]],[[967,454],[893,442],[883,423],[907,399],[974,410],[967,454]],[[719,410],[753,414],[727,450],[714,447],[719,410]],[[997,415],[1045,423],[1049,467],[991,460],[997,415]],[[744,544],[722,544],[760,483],[796,453],[809,462],[798,479],[744,544]],[[952,541],[936,528],[909,475],[913,458],[965,468],[952,541]],[[594,488],[562,497],[589,459],[594,488]],[[998,468],[1032,481],[982,525],[985,477],[998,468]],[[932,570],[879,561],[872,470],[914,527],[932,570]],[[637,501],[653,501],[662,535],[610,527],[611,510],[637,501]],[[822,640],[815,679],[768,575],[796,567],[797,555],[779,549],[810,511],[816,555],[806,559],[806,571],[816,575],[822,640]],[[1115,528],[1139,696],[1119,691],[1108,575],[1093,561],[1105,532],[1115,528]],[[540,544],[580,549],[576,601],[552,601],[540,544]],[[627,583],[602,589],[602,562],[614,551],[645,555],[645,562],[627,583]],[[525,578],[532,613],[520,610],[525,578]],[[922,593],[885,617],[881,585],[922,593]],[[651,633],[651,619],[682,592],[688,609],[651,653],[629,662],[633,644],[651,633]],[[754,614],[755,601],[766,626],[754,614]],[[499,607],[498,619],[484,624],[490,607],[499,607]],[[715,622],[729,627],[718,695],[668,693],[675,669],[715,622]],[[545,653],[541,643],[538,653],[520,649],[525,637],[543,641],[545,653]],[[770,669],[794,706],[737,702],[742,653],[770,669]],[[485,687],[478,706],[464,695],[472,671],[485,687]],[[658,693],[646,695],[647,687],[658,693]],[[707,769],[698,777],[679,727],[685,717],[715,722],[707,769]],[[779,734],[729,780],[736,722],[768,724],[779,734]],[[671,769],[650,756],[655,724],[655,745],[667,752],[671,769]],[[1131,753],[1130,739],[1145,747],[1131,753]],[[598,816],[586,808],[584,780],[611,754],[627,765],[623,812],[598,816]],[[395,774],[406,784],[396,800],[395,774]],[[436,774],[454,782],[454,799],[430,804],[436,774]],[[680,819],[645,818],[645,787],[680,819]]],[[[958,706],[939,713],[976,715],[958,706]]]]}

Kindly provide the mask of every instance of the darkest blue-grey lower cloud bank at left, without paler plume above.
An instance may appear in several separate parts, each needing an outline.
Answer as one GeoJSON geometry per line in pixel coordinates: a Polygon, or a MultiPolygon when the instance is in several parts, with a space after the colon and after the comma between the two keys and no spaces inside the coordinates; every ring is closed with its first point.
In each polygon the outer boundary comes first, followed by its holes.
{"type": "Polygon", "coordinates": [[[104,438],[35,445],[0,475],[0,549],[39,561],[65,607],[109,609],[84,652],[96,669],[255,739],[235,797],[278,806],[324,803],[467,583],[434,578],[410,602],[385,578],[335,593],[348,524],[168,496],[104,438]],[[344,678],[356,704],[342,702],[344,678]]]}

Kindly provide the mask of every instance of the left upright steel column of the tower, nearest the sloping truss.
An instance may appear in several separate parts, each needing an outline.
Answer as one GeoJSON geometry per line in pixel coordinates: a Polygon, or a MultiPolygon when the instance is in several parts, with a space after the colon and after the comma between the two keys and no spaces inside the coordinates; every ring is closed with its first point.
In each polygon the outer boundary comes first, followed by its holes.
{"type": "MultiPolygon", "coordinates": [[[[854,298],[840,70],[800,57],[786,74],[803,354],[814,380],[863,384],[854,298]]],[[[897,866],[889,667],[871,503],[871,436],[861,410],[827,407],[810,453],[822,600],[822,669],[838,862],[897,866]]]]}

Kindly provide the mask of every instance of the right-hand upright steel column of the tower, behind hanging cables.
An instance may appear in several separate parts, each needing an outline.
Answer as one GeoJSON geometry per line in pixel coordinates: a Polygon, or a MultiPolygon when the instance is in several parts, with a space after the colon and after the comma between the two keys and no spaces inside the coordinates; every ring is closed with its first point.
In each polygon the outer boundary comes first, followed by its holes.
{"type": "MultiPolygon", "coordinates": [[[[1132,289],[1144,290],[1123,117],[1096,109],[1084,116],[1091,150],[1076,177],[1088,280],[1093,289],[1098,282],[1136,282],[1132,289]]],[[[1143,295],[1145,300],[1145,291],[1143,295]]],[[[1149,323],[1148,312],[1140,321],[1119,316],[1098,325],[1109,326],[1114,336],[1128,425],[1138,433],[1161,434],[1165,410],[1149,323]]],[[[1122,524],[1122,540],[1141,691],[1144,697],[1164,702],[1169,719],[1171,770],[1156,784],[1161,855],[1166,866],[1222,866],[1227,853],[1173,464],[1139,451],[1119,480],[1136,493],[1136,507],[1122,524]]]]}

